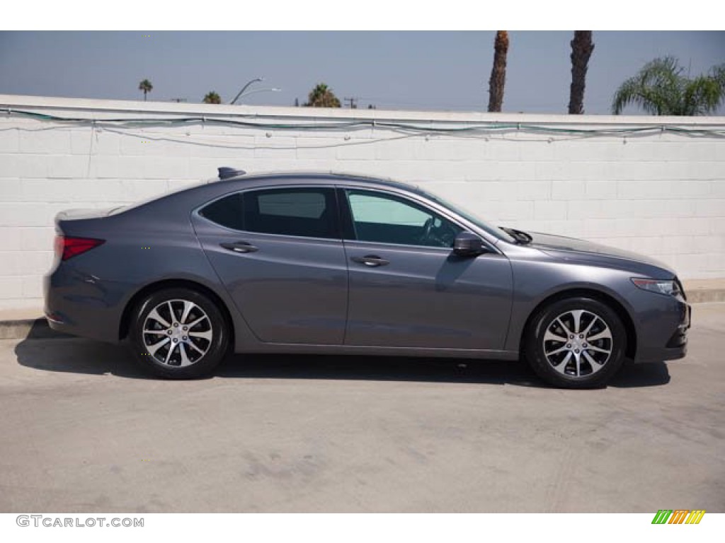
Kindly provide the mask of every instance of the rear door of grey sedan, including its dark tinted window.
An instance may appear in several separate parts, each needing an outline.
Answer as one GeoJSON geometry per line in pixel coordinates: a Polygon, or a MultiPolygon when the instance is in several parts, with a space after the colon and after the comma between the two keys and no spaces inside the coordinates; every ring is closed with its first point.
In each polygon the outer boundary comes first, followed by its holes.
{"type": "Polygon", "coordinates": [[[252,189],[193,217],[212,266],[264,342],[339,345],[347,264],[334,188],[252,189]]]}

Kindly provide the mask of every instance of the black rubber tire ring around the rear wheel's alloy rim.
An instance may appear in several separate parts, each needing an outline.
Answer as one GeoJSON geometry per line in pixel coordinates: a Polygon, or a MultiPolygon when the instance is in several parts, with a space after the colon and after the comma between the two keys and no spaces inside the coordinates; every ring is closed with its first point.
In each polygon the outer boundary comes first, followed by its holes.
{"type": "Polygon", "coordinates": [[[195,379],[209,374],[223,360],[228,350],[228,324],[220,308],[206,295],[187,288],[168,288],[144,297],[133,310],[130,323],[130,348],[142,369],[167,379],[195,379]],[[151,311],[166,300],[188,300],[202,308],[211,322],[213,337],[209,350],[199,362],[176,368],[159,363],[148,354],[142,337],[144,321],[151,311]]]}

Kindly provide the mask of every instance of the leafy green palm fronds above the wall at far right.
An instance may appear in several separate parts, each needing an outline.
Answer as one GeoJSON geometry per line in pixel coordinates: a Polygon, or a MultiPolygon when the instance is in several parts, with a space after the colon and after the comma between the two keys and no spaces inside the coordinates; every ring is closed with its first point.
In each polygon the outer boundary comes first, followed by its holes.
{"type": "Polygon", "coordinates": [[[612,100],[618,115],[629,105],[653,115],[707,115],[725,101],[725,64],[690,79],[674,56],[647,62],[620,85],[612,100]]]}

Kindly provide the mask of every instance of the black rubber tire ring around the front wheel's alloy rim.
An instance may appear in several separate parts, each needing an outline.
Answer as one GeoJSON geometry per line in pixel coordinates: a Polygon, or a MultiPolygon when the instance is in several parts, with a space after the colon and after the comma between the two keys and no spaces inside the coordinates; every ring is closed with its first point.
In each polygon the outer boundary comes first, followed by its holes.
{"type": "Polygon", "coordinates": [[[531,368],[544,379],[556,387],[563,388],[595,388],[602,387],[612,378],[624,363],[626,351],[626,330],[621,319],[610,306],[594,298],[565,298],[542,308],[531,320],[531,326],[526,331],[524,346],[525,358],[531,368]],[[584,309],[595,313],[608,325],[612,334],[613,349],[605,366],[591,376],[567,377],[556,371],[544,355],[544,333],[553,319],[566,311],[584,309]]]}

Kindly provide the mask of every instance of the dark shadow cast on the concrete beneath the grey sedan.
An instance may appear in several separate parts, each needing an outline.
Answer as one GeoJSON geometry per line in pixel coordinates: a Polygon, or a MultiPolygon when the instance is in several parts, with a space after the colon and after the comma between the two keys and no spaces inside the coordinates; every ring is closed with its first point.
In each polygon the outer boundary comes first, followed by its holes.
{"type": "MultiPolygon", "coordinates": [[[[21,366],[75,374],[153,379],[138,369],[128,348],[43,330],[15,347],[21,366]]],[[[212,376],[225,379],[349,379],[547,387],[525,363],[452,358],[350,355],[232,355],[212,376]]],[[[665,363],[626,364],[611,387],[652,387],[669,382],[665,363]]]]}

